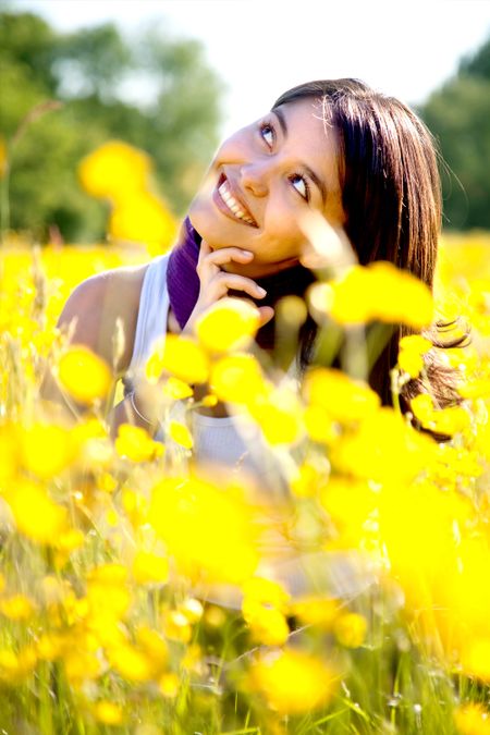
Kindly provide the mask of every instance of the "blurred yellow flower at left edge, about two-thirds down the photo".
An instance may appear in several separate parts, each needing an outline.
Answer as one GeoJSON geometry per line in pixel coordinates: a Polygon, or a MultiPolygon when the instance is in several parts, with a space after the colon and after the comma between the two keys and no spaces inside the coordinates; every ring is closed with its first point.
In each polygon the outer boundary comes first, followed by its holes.
{"type": "Polygon", "coordinates": [[[52,544],[65,530],[65,509],[34,482],[19,482],[7,495],[7,501],[19,530],[33,541],[52,544]]]}

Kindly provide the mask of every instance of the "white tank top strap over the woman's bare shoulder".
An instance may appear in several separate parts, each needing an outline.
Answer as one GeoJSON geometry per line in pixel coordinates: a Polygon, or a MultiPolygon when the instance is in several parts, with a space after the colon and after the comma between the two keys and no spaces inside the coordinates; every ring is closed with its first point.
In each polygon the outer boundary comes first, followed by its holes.
{"type": "Polygon", "coordinates": [[[128,373],[134,376],[151,354],[157,340],[167,334],[169,315],[169,292],[167,289],[167,266],[169,254],[154,258],[146,269],[139,296],[133,355],[128,373]]]}

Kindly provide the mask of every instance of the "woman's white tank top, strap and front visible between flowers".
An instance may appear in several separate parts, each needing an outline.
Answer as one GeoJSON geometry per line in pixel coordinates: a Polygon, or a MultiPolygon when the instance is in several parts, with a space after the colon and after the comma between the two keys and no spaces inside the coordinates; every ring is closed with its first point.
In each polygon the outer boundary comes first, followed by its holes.
{"type": "MultiPolygon", "coordinates": [[[[157,340],[167,335],[169,315],[169,292],[167,289],[167,266],[169,255],[154,258],[146,269],[139,296],[139,310],[136,322],[133,355],[130,363],[130,377],[137,377],[145,367],[157,340]]],[[[180,406],[182,409],[182,405],[180,406]]],[[[175,406],[179,415],[179,405],[175,406]]],[[[194,458],[198,463],[221,465],[236,471],[244,470],[255,481],[266,487],[283,486],[278,464],[270,451],[267,451],[261,433],[245,416],[223,418],[205,416],[192,412],[194,458]]],[[[177,417],[177,416],[176,416],[177,417]]],[[[162,431],[155,437],[166,442],[162,431]]],[[[279,487],[278,487],[279,490],[279,487]]],[[[282,490],[281,490],[282,492],[282,490]]]]}

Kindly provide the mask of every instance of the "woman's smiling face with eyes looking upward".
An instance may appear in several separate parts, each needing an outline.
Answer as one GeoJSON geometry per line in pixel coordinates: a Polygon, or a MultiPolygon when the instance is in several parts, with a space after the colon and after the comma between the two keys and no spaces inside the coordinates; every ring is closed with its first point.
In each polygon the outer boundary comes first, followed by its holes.
{"type": "Polygon", "coordinates": [[[258,278],[298,262],[308,248],[301,222],[320,211],[342,225],[335,131],[313,99],[282,105],[219,148],[189,218],[212,249],[254,253],[226,270],[258,278]]]}

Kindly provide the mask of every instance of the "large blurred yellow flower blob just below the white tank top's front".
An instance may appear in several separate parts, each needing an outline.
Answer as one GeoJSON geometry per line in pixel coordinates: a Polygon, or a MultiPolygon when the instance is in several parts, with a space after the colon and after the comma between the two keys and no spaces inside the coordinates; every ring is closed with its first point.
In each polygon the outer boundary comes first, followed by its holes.
{"type": "Polygon", "coordinates": [[[238,584],[258,563],[253,509],[231,488],[168,478],[151,493],[149,522],[191,578],[238,584]]]}

